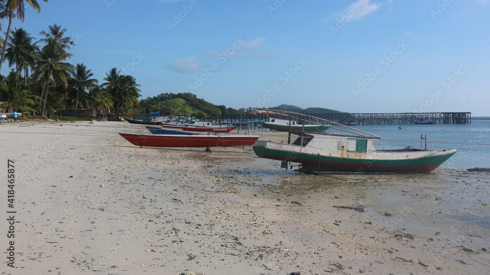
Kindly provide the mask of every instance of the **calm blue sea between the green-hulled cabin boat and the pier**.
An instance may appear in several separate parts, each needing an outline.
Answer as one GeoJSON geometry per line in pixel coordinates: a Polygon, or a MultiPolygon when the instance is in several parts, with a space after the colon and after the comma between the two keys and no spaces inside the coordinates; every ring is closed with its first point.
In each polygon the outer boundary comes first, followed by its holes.
{"type": "MultiPolygon", "coordinates": [[[[374,142],[376,149],[397,149],[407,146],[420,148],[421,135],[424,138],[427,135],[427,149],[458,149],[454,156],[440,166],[441,168],[490,167],[490,120],[471,120],[470,124],[353,127],[381,137],[380,141],[374,142]]],[[[327,132],[331,131],[331,129],[327,130],[327,132]]],[[[423,147],[425,148],[425,143],[423,147]]]]}

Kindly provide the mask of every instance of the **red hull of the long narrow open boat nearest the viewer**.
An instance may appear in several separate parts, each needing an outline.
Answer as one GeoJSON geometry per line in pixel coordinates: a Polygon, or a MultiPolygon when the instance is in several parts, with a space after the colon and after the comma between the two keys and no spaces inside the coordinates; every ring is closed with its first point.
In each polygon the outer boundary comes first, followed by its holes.
{"type": "Polygon", "coordinates": [[[253,145],[259,136],[248,135],[139,135],[123,134],[121,137],[136,146],[146,147],[229,147],[253,145]]]}

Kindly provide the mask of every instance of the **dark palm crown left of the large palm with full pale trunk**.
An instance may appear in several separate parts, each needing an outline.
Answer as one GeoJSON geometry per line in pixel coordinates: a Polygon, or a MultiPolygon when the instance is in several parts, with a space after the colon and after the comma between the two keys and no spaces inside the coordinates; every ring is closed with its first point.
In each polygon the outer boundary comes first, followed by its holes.
{"type": "Polygon", "coordinates": [[[29,66],[34,62],[35,51],[37,50],[36,43],[32,43],[32,37],[23,29],[15,28],[12,31],[11,43],[5,53],[5,58],[8,60],[8,66],[15,64],[15,69],[20,75],[21,69],[24,69],[24,83],[27,85],[27,76],[29,66]]]}

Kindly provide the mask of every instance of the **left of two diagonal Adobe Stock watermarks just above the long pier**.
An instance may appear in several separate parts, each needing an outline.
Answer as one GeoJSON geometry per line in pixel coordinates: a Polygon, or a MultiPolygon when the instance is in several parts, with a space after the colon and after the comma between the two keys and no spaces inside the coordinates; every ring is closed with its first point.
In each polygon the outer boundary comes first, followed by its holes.
{"type": "Polygon", "coordinates": [[[398,42],[396,44],[395,50],[393,50],[390,54],[385,55],[383,58],[379,60],[379,64],[382,66],[373,69],[372,72],[366,73],[366,78],[358,81],[357,89],[351,89],[350,92],[354,96],[354,99],[357,98],[360,94],[362,94],[366,89],[378,78],[379,75],[383,73],[383,69],[388,69],[391,64],[408,48],[408,45],[405,45],[405,42],[398,42]],[[382,69],[383,68],[383,69],[382,69]]]}

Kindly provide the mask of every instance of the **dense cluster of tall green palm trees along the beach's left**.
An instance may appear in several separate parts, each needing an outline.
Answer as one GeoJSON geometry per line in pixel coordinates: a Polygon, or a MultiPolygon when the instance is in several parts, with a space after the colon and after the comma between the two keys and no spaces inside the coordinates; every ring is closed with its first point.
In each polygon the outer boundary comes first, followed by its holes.
{"type": "Polygon", "coordinates": [[[137,111],[141,90],[136,79],[112,68],[99,85],[86,65],[69,63],[74,42],[61,25],[49,25],[38,40],[23,28],[11,29],[14,18],[24,22],[25,3],[35,11],[41,9],[37,0],[0,0],[0,20],[8,20],[5,39],[0,40],[0,69],[4,62],[11,68],[7,76],[0,75],[2,109],[44,118],[61,110],[76,114],[80,108],[95,109],[100,115],[137,111]]]}

